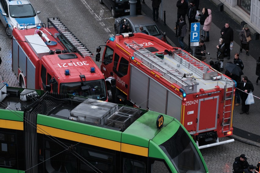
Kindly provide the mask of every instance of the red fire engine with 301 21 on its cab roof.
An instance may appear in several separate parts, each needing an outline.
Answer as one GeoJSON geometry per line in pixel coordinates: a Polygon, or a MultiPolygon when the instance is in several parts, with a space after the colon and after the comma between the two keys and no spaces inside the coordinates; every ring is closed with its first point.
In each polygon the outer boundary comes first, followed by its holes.
{"type": "Polygon", "coordinates": [[[48,27],[13,29],[12,69],[23,88],[107,101],[105,78],[92,53],[59,18],[48,27]]]}

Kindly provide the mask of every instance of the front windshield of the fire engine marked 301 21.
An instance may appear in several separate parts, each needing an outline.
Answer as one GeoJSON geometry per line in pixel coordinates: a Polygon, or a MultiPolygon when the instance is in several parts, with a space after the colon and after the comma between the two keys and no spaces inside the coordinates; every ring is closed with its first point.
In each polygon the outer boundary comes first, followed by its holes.
{"type": "Polygon", "coordinates": [[[80,95],[97,100],[107,99],[106,85],[103,79],[86,81],[84,85],[82,82],[61,83],[60,93],[80,95]]]}

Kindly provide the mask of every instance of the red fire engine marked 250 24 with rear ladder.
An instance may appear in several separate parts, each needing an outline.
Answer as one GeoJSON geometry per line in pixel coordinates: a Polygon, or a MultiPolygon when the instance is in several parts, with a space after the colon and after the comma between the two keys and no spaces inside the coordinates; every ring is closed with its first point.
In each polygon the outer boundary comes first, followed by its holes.
{"type": "Polygon", "coordinates": [[[116,80],[119,100],[175,117],[199,148],[234,141],[218,141],[232,135],[234,81],[186,51],[143,33],[117,34],[107,40],[101,71],[107,89],[116,80]]]}

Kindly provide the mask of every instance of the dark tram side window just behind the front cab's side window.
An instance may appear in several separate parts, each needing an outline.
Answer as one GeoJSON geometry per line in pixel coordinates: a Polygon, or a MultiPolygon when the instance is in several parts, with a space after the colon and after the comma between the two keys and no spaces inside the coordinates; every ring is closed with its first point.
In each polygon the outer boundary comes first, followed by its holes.
{"type": "Polygon", "coordinates": [[[146,166],[143,161],[130,158],[123,159],[123,173],[145,173],[146,166]]]}

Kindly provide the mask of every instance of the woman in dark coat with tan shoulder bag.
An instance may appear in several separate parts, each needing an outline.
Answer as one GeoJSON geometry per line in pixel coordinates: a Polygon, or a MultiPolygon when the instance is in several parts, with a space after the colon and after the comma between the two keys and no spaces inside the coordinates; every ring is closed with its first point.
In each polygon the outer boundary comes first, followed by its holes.
{"type": "Polygon", "coordinates": [[[249,43],[250,43],[250,40],[249,41],[247,40],[248,37],[250,37],[251,39],[251,32],[250,29],[248,28],[248,25],[245,24],[244,28],[239,33],[239,39],[241,41],[240,52],[242,52],[243,49],[246,50],[247,56],[249,56],[248,50],[249,50],[249,43]]]}

